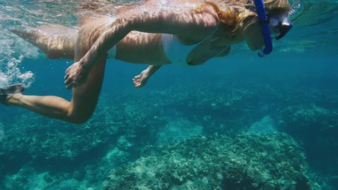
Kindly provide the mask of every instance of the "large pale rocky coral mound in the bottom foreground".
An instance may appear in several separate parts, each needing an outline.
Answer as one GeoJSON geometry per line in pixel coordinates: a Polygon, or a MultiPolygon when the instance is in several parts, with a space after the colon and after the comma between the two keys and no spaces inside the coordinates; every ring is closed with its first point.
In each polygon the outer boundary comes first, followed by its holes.
{"type": "Polygon", "coordinates": [[[319,190],[286,134],[196,136],[113,169],[104,190],[319,190]]]}

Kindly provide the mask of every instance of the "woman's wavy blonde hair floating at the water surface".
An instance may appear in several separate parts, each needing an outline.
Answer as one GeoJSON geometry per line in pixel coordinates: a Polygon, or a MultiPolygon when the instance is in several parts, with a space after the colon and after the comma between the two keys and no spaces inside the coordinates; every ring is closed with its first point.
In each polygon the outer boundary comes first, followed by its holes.
{"type": "MultiPolygon", "coordinates": [[[[263,0],[263,3],[268,14],[287,12],[291,9],[289,0],[263,0]]],[[[247,25],[250,25],[257,17],[253,0],[220,0],[219,3],[206,1],[195,11],[201,11],[206,6],[211,6],[215,10],[220,23],[225,26],[231,37],[236,35],[239,27],[243,27],[245,20],[252,18],[247,22],[247,25]]]]}

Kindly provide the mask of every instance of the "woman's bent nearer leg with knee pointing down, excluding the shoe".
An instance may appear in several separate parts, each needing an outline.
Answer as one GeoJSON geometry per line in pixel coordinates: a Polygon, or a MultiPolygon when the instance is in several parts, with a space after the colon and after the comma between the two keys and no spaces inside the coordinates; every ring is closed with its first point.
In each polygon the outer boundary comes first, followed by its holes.
{"type": "MultiPolygon", "coordinates": [[[[76,44],[75,62],[79,61],[95,42],[98,35],[86,35],[90,28],[79,33],[76,44]]],[[[93,34],[93,33],[91,33],[93,34]]],[[[17,93],[7,97],[6,104],[26,108],[38,114],[71,123],[83,123],[94,112],[100,94],[106,58],[91,70],[86,83],[73,88],[71,102],[56,96],[28,96],[17,93]]]]}

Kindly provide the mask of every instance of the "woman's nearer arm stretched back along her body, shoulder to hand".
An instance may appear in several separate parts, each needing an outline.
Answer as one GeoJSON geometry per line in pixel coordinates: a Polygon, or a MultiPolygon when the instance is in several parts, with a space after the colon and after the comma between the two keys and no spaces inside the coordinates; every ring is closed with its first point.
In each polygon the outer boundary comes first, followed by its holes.
{"type": "Polygon", "coordinates": [[[200,13],[194,13],[191,10],[180,13],[173,10],[161,10],[119,18],[103,32],[79,62],[67,69],[66,87],[72,88],[83,84],[96,62],[130,31],[168,33],[181,38],[203,39],[211,35],[217,25],[218,17],[212,8],[206,8],[206,11],[200,13]]]}

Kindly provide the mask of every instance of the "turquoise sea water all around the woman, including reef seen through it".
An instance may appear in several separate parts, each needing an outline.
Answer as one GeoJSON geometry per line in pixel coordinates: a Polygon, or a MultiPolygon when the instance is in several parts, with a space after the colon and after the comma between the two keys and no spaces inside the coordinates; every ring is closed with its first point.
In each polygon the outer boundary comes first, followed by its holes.
{"type": "MultiPolygon", "coordinates": [[[[109,14],[121,2],[94,4],[109,14]]],[[[81,3],[0,1],[0,86],[71,98],[73,62],[9,30],[75,26],[81,3]]],[[[264,58],[239,44],[202,66],[165,66],[141,89],[131,78],[147,66],[109,60],[82,125],[0,105],[0,189],[338,190],[338,2],[300,3],[264,58]]]]}

